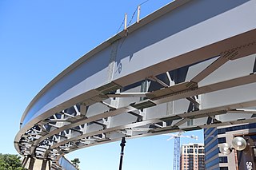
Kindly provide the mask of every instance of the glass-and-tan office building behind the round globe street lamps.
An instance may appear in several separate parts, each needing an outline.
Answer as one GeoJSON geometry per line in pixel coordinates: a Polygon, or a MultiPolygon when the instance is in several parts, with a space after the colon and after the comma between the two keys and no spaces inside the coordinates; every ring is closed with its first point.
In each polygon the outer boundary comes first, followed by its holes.
{"type": "Polygon", "coordinates": [[[220,144],[231,144],[235,136],[246,136],[256,144],[256,123],[204,129],[206,170],[238,170],[238,154],[219,152],[220,144]]]}

